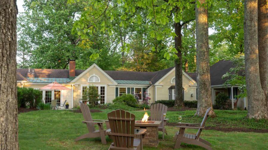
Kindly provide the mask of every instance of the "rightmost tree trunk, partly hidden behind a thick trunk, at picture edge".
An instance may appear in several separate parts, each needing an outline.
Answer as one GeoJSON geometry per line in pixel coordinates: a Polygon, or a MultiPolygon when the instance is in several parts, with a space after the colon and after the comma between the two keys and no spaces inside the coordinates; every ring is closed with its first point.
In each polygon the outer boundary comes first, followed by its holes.
{"type": "Polygon", "coordinates": [[[261,87],[268,111],[268,0],[258,0],[258,50],[261,87]]]}

